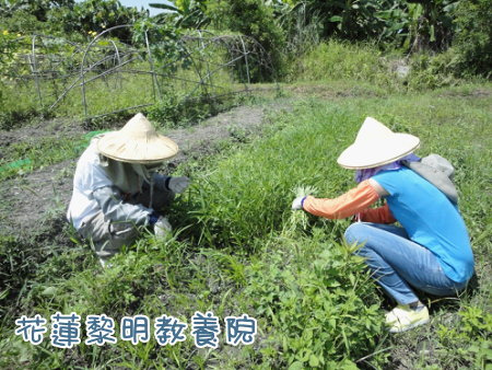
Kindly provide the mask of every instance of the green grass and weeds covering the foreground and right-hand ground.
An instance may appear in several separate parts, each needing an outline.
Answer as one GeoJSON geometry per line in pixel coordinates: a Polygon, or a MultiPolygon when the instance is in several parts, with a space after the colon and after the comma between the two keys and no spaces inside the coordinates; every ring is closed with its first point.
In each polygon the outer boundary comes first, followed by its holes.
{"type": "Polygon", "coordinates": [[[102,270],[89,247],[68,238],[70,250],[39,258],[35,240],[9,240],[0,245],[2,271],[22,275],[25,288],[11,282],[0,300],[0,365],[480,368],[491,359],[491,94],[490,84],[468,84],[422,94],[300,100],[292,113],[270,117],[274,125],[261,138],[178,169],[189,172],[194,185],[177,199],[172,223],[187,229],[166,243],[145,235],[117,256],[114,269],[102,270]],[[382,293],[342,243],[348,220],[309,217],[307,228],[285,233],[293,188],[315,186],[318,196],[333,197],[354,185],[353,174],[336,159],[366,116],[419,136],[418,154],[437,152],[455,164],[480,282],[458,298],[422,297],[431,307],[431,324],[395,336],[383,329],[382,293]],[[13,267],[11,255],[16,255],[13,267]],[[259,334],[254,346],[238,348],[221,336],[212,351],[196,350],[189,334],[175,347],[119,340],[72,351],[54,349],[46,338],[35,347],[13,335],[21,314],[47,317],[55,310],[105,313],[116,322],[122,315],[166,313],[189,323],[196,310],[221,319],[247,313],[258,320],[259,334]],[[422,344],[432,356],[419,352],[422,344]]]}

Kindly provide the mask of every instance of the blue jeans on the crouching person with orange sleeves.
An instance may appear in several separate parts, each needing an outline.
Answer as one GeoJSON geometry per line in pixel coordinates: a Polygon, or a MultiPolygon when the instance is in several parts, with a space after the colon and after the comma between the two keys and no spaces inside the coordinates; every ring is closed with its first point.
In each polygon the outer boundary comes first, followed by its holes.
{"type": "Polygon", "coordinates": [[[449,279],[434,254],[412,242],[402,228],[356,222],[347,229],[345,240],[362,244],[355,254],[366,258],[373,277],[399,304],[419,300],[411,287],[433,296],[449,296],[467,285],[449,279]]]}

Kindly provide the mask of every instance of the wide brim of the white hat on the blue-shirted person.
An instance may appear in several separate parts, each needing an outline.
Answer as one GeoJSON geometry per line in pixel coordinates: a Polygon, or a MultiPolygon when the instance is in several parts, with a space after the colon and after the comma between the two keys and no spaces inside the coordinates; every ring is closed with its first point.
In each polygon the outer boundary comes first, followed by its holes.
{"type": "Polygon", "coordinates": [[[337,163],[344,169],[364,170],[385,165],[412,153],[420,146],[420,139],[410,134],[394,134],[377,148],[353,143],[338,158],[337,163]]]}

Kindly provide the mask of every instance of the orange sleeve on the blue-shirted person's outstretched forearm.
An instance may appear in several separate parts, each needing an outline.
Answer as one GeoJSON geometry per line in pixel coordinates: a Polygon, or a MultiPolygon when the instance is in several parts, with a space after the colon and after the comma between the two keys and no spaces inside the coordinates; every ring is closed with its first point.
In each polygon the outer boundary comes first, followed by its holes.
{"type": "Polygon", "coordinates": [[[328,219],[343,219],[366,210],[379,199],[379,195],[368,180],[361,182],[358,187],[335,199],[321,199],[307,196],[304,199],[305,211],[328,219]]]}

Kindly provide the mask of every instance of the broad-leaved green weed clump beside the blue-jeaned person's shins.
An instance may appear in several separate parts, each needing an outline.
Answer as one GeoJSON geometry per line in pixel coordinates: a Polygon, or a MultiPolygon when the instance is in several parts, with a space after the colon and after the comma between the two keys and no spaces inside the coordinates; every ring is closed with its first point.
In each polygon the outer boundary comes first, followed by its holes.
{"type": "Polygon", "coordinates": [[[340,368],[372,352],[384,331],[362,258],[330,239],[316,229],[309,239],[274,240],[268,257],[247,269],[245,294],[268,333],[265,360],[284,362],[274,367],[340,368]]]}

